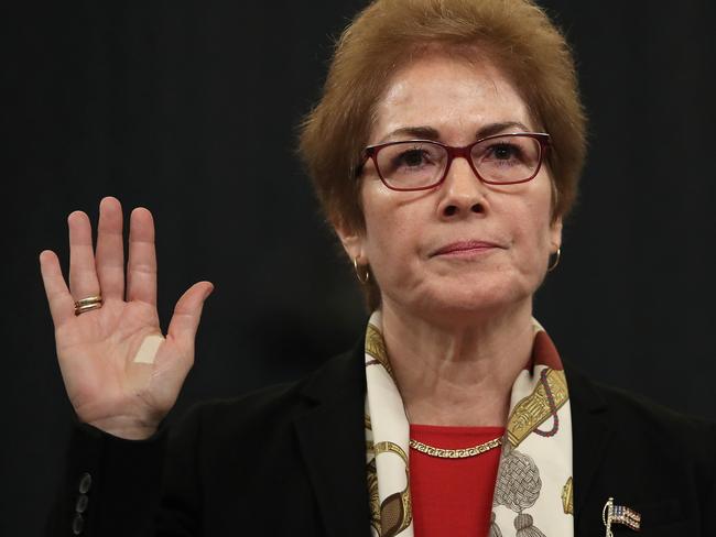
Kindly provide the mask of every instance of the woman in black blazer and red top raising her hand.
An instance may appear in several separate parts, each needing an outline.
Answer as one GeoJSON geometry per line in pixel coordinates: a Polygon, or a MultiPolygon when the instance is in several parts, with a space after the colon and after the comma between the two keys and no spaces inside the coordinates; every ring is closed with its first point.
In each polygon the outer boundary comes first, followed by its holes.
{"type": "Polygon", "coordinates": [[[713,425],[596,386],[532,318],[585,120],[523,0],[382,0],[344,32],[301,149],[373,310],[299,383],[161,427],[211,284],[155,308],[153,223],[69,217],[41,254],[79,421],[52,535],[714,535],[713,425]]]}

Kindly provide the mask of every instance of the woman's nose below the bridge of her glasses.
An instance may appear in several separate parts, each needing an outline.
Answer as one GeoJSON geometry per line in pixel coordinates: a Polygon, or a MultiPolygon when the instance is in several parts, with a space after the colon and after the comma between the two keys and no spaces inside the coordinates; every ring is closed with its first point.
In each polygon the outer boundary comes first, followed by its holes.
{"type": "Polygon", "coordinates": [[[442,218],[455,219],[486,213],[485,185],[464,157],[453,160],[440,191],[442,199],[438,211],[442,218]]]}

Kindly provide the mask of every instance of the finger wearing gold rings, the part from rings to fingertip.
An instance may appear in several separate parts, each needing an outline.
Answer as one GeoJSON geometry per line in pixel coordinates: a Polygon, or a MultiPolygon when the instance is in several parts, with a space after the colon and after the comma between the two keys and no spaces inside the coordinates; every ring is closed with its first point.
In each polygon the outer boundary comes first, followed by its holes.
{"type": "Polygon", "coordinates": [[[75,211],[67,218],[69,226],[69,291],[75,302],[100,294],[89,217],[75,211]]]}

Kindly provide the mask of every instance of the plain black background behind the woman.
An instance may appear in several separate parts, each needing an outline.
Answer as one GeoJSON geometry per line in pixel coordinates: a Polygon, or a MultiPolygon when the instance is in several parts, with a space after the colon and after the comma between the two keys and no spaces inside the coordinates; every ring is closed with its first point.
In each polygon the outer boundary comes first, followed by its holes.
{"type": "MultiPolygon", "coordinates": [[[[575,47],[592,122],[581,202],[535,315],[594,377],[714,419],[714,2],[541,3],[575,47]]],[[[62,468],[72,408],[37,254],[67,266],[72,210],[94,220],[115,195],[126,215],[153,211],[164,329],[186,287],[216,285],[173,418],[295,379],[360,336],[351,267],[294,146],[333,37],[362,6],[6,11],[0,535],[40,534],[62,468]]]]}

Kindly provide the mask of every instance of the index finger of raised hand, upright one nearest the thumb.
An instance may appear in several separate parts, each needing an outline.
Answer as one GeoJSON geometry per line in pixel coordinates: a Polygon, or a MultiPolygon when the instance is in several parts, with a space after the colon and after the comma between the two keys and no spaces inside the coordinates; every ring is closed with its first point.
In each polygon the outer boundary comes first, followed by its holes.
{"type": "Polygon", "coordinates": [[[134,209],[129,220],[127,299],[156,305],[154,219],[152,213],[142,207],[134,209]]]}

